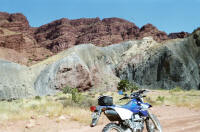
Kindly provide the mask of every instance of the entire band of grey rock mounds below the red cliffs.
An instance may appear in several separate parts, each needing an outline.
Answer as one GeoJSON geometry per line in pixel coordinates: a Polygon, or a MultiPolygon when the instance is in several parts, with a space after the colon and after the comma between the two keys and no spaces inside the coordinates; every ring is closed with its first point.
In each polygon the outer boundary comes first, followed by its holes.
{"type": "Polygon", "coordinates": [[[1,99],[54,94],[66,86],[116,90],[120,79],[143,88],[200,89],[200,30],[163,43],[146,37],[106,47],[83,44],[31,67],[7,61],[0,67],[1,99]]]}

